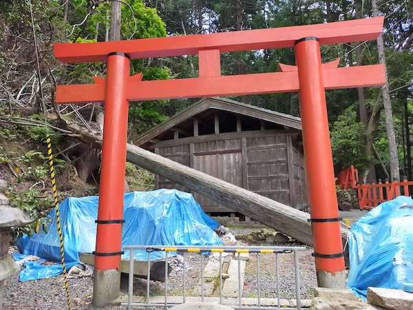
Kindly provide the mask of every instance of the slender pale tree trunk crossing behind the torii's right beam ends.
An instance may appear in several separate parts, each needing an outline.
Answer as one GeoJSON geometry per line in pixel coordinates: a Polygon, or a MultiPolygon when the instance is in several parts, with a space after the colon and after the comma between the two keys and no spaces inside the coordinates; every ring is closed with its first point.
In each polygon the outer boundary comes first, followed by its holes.
{"type": "MultiPolygon", "coordinates": [[[[379,9],[377,8],[377,0],[372,0],[373,16],[379,16],[379,9]]],[[[400,179],[399,172],[399,154],[397,152],[396,134],[394,133],[393,115],[392,115],[392,103],[390,101],[389,84],[387,80],[387,69],[385,66],[385,54],[383,35],[379,34],[377,37],[377,48],[379,50],[379,63],[383,64],[386,76],[386,83],[381,87],[383,92],[383,105],[385,112],[385,127],[387,130],[388,142],[389,142],[389,155],[390,155],[390,177],[400,179]]]]}

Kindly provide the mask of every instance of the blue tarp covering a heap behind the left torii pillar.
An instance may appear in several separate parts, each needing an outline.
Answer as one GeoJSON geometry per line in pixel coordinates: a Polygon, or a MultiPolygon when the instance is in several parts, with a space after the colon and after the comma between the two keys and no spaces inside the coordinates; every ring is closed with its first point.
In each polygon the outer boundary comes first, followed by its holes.
{"type": "MultiPolygon", "coordinates": [[[[98,196],[67,198],[59,205],[63,232],[65,266],[76,265],[81,252],[92,253],[96,245],[98,196]]],[[[19,246],[24,256],[34,255],[50,262],[61,262],[60,237],[57,230],[56,211],[47,216],[49,232],[43,229],[31,238],[25,236],[19,246]]],[[[125,245],[222,245],[215,234],[218,222],[207,216],[189,193],[176,189],[159,189],[153,192],[125,194],[123,207],[122,247],[125,245]]],[[[171,253],[168,253],[170,256],[171,253]]],[[[122,258],[129,259],[129,250],[122,258]]],[[[135,251],[135,260],[147,260],[147,251],[135,251]]],[[[151,252],[151,260],[165,258],[164,251],[151,252]]],[[[20,280],[35,280],[51,276],[41,262],[30,262],[30,270],[20,273],[20,280]],[[34,269],[44,269],[43,271],[34,269]]],[[[53,269],[60,269],[61,264],[53,269]]],[[[59,273],[58,273],[59,274],[59,273]]],[[[56,274],[53,274],[56,276],[56,274]]]]}

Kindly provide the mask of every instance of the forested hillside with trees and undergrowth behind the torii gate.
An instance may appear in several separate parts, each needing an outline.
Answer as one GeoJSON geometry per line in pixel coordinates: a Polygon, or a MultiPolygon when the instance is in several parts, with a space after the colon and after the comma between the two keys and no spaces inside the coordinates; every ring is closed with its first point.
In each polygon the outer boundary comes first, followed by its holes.
{"type": "MultiPolygon", "coordinates": [[[[324,62],[380,62],[388,72],[387,87],[326,92],[333,161],[335,172],[354,165],[368,183],[400,176],[413,180],[412,14],[413,1],[407,0],[1,0],[0,178],[10,185],[12,204],[40,223],[52,205],[44,143],[49,134],[56,149],[61,198],[97,193],[100,150],[67,124],[101,132],[103,105],[59,106],[54,92],[56,85],[105,77],[105,63],[63,64],[54,58],[54,43],[232,32],[384,15],[378,41],[321,46],[324,62]]],[[[293,48],[221,54],[222,75],[275,72],[278,63],[295,65],[293,48]]],[[[138,72],[145,80],[196,77],[198,56],[132,60],[131,74],[138,72]]],[[[297,93],[231,99],[299,116],[297,93]]],[[[129,103],[128,141],[195,101],[129,103]]],[[[149,172],[127,165],[125,187],[149,190],[152,182],[149,172]]]]}

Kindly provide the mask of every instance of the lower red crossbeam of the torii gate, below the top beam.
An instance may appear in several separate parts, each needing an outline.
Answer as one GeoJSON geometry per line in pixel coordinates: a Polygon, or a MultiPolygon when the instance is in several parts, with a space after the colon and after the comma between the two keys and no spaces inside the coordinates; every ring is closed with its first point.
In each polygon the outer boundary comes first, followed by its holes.
{"type": "MultiPolygon", "coordinates": [[[[323,70],[326,89],[354,88],[383,85],[383,65],[365,65],[323,70]]],[[[297,71],[261,74],[217,76],[196,79],[128,82],[129,101],[157,99],[202,98],[207,96],[232,96],[236,94],[270,94],[298,92],[297,71]]],[[[89,103],[105,99],[105,85],[58,85],[56,103],[89,103]]]]}

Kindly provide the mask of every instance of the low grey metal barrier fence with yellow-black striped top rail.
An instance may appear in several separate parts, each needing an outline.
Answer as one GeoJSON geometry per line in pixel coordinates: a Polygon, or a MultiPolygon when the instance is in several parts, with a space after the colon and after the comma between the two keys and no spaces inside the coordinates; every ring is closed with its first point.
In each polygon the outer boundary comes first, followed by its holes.
{"type": "MultiPolygon", "coordinates": [[[[305,251],[306,247],[235,247],[235,246],[221,246],[221,247],[211,247],[211,246],[171,246],[165,247],[165,245],[143,245],[143,246],[125,246],[123,247],[125,250],[129,249],[129,287],[128,287],[128,302],[122,302],[122,306],[127,306],[128,309],[132,307],[173,307],[178,303],[185,303],[188,302],[188,296],[186,293],[186,254],[188,252],[194,253],[198,252],[201,255],[201,270],[200,270],[200,282],[201,282],[201,302],[206,302],[206,298],[204,296],[204,253],[219,253],[219,289],[220,289],[220,297],[219,303],[225,304],[227,306],[233,307],[234,309],[260,309],[260,310],[273,310],[273,309],[290,309],[295,310],[301,309],[301,293],[300,293],[300,279],[299,279],[299,260],[298,260],[298,252],[305,251]],[[134,251],[135,250],[145,250],[148,253],[148,264],[147,264],[147,296],[145,302],[133,302],[133,291],[134,291],[134,273],[131,272],[134,270],[134,251]],[[153,251],[165,251],[165,300],[162,303],[151,302],[149,296],[149,288],[150,288],[150,273],[151,273],[151,252],[153,251]],[[171,296],[168,296],[168,252],[179,252],[182,253],[183,256],[183,264],[184,268],[182,269],[182,300],[178,303],[176,299],[174,302],[171,302],[171,296]],[[229,300],[233,298],[224,298],[222,296],[222,253],[230,252],[238,254],[238,297],[237,304],[229,304],[229,300]],[[242,253],[255,253],[257,254],[256,264],[257,264],[257,298],[253,298],[255,300],[254,305],[252,302],[248,305],[246,300],[247,298],[242,298],[242,285],[244,283],[241,281],[241,258],[240,254],[242,253]],[[286,305],[282,305],[280,300],[280,289],[279,289],[279,254],[286,254],[286,253],[293,253],[294,254],[294,269],[295,269],[295,295],[296,295],[296,306],[297,307],[286,307],[286,305]],[[262,297],[260,293],[260,254],[273,254],[275,255],[275,268],[276,268],[276,280],[277,280],[277,304],[273,307],[264,307],[262,306],[262,297]],[[169,300],[168,300],[169,299],[169,300]],[[244,300],[243,300],[244,299],[244,300]],[[225,302],[224,302],[225,301],[225,302]]],[[[251,301],[251,298],[248,298],[251,301]]],[[[218,302],[218,300],[217,300],[218,302]]]]}

